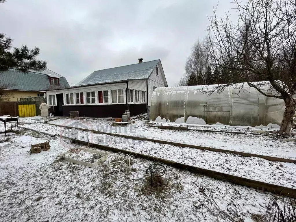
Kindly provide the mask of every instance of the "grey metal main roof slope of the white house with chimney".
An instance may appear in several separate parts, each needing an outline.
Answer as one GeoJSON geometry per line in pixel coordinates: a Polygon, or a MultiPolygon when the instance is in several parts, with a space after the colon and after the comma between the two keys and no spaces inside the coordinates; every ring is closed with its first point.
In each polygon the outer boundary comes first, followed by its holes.
{"type": "Polygon", "coordinates": [[[75,86],[148,79],[160,59],[94,71],[75,86]]]}

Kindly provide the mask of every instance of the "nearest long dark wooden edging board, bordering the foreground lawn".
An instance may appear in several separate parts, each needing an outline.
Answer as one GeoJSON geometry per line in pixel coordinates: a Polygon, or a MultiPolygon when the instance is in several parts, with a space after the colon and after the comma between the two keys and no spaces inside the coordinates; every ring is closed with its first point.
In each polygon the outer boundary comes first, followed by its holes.
{"type": "MultiPolygon", "coordinates": [[[[22,128],[25,128],[25,127],[22,127],[22,128]]],[[[33,130],[33,129],[30,129],[30,128],[25,128],[25,129],[33,130]]],[[[36,130],[33,130],[33,131],[36,131],[36,130]]],[[[38,131],[36,131],[36,132],[38,132],[38,131]]],[[[44,133],[44,132],[39,132],[39,133],[49,135],[49,133],[44,133]]],[[[74,141],[75,143],[83,144],[83,145],[86,145],[86,146],[89,144],[87,141],[73,139],[73,138],[68,137],[68,136],[61,136],[61,135],[57,135],[57,134],[55,134],[54,136],[59,136],[61,138],[69,139],[70,141],[74,141]]],[[[162,158],[159,158],[159,157],[152,157],[152,156],[149,156],[149,155],[136,153],[136,152],[131,152],[131,151],[127,151],[127,150],[124,150],[124,149],[109,147],[109,146],[105,146],[105,145],[101,145],[101,144],[92,144],[92,147],[107,150],[107,151],[112,151],[112,152],[122,152],[124,154],[133,155],[135,157],[140,157],[140,158],[145,159],[145,160],[157,161],[159,163],[163,163],[163,164],[166,164],[166,165],[171,165],[171,166],[179,168],[179,169],[186,169],[186,170],[188,170],[188,171],[190,171],[192,173],[200,173],[200,174],[203,174],[205,176],[208,176],[208,177],[211,177],[211,178],[214,178],[214,179],[225,180],[225,181],[228,181],[228,182],[233,183],[233,184],[238,184],[238,185],[242,185],[242,186],[248,186],[248,187],[251,187],[251,188],[255,188],[256,190],[262,191],[262,192],[268,191],[268,192],[271,192],[271,193],[274,193],[274,194],[277,194],[277,195],[284,195],[284,196],[287,196],[287,197],[295,197],[296,196],[296,190],[295,189],[285,187],[285,186],[280,186],[280,185],[276,185],[276,184],[269,184],[269,183],[265,183],[265,182],[261,182],[261,181],[255,181],[255,180],[240,177],[240,176],[234,176],[234,175],[231,175],[231,174],[221,173],[221,172],[217,172],[217,171],[214,171],[214,170],[208,170],[208,169],[195,167],[195,166],[191,166],[191,165],[187,165],[187,164],[183,164],[183,163],[177,163],[175,161],[165,160],[165,159],[162,159],[162,158]]]]}

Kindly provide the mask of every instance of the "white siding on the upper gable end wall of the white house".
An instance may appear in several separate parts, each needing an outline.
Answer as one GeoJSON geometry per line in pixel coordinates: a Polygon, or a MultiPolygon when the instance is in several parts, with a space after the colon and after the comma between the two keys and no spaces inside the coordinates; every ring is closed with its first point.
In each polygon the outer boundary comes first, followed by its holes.
{"type": "Polygon", "coordinates": [[[164,72],[161,63],[158,62],[158,75],[156,75],[156,67],[148,79],[148,105],[151,103],[153,87],[165,87],[164,72]]]}

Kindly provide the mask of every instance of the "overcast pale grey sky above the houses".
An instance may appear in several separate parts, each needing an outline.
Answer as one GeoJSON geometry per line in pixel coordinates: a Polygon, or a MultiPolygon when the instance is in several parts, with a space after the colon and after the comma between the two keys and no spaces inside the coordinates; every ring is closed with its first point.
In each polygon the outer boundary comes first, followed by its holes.
{"type": "MultiPolygon", "coordinates": [[[[232,0],[220,0],[218,13],[232,0]]],[[[40,48],[39,59],[70,86],[95,70],[161,59],[169,86],[184,73],[218,0],[7,0],[0,32],[13,46],[40,48]],[[73,83],[73,84],[71,84],[73,83]]]]}

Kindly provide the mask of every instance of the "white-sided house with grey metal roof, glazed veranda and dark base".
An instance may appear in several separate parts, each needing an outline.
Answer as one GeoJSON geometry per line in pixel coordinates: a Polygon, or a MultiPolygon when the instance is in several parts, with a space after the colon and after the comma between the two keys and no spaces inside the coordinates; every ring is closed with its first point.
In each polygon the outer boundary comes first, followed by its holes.
{"type": "Polygon", "coordinates": [[[79,111],[85,117],[121,117],[147,111],[156,87],[168,86],[160,59],[98,70],[75,86],[46,90],[48,104],[69,116],[79,111]]]}

